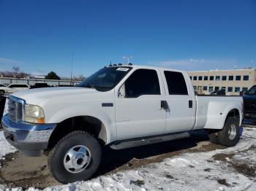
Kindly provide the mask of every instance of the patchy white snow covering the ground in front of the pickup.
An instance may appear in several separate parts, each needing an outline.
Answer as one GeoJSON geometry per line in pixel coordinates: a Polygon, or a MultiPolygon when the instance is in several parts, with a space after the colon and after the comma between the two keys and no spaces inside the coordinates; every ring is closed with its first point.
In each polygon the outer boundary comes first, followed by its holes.
{"type": "MultiPolygon", "coordinates": [[[[10,150],[4,150],[10,152],[10,150]]],[[[15,149],[11,151],[14,152],[15,149]]],[[[212,152],[186,153],[167,158],[162,163],[150,164],[145,168],[99,176],[86,182],[48,187],[45,191],[256,190],[255,152],[256,128],[244,128],[243,136],[236,147],[217,149],[212,152]]],[[[29,188],[29,191],[34,190],[37,189],[29,188]]]]}

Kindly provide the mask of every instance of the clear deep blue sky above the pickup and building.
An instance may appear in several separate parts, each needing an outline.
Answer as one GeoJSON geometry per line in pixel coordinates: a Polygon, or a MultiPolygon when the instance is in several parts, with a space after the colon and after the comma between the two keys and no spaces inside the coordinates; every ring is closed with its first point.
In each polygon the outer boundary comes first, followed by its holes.
{"type": "Polygon", "coordinates": [[[88,76],[132,63],[183,70],[256,66],[256,1],[0,0],[0,70],[88,76]]]}

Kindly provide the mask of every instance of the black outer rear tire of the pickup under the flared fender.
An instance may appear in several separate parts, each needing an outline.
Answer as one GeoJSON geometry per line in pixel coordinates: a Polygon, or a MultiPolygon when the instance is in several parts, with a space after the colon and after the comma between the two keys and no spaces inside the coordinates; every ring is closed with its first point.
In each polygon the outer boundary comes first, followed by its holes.
{"type": "Polygon", "coordinates": [[[235,146],[240,138],[240,128],[239,128],[239,117],[228,117],[225,121],[224,128],[218,132],[218,139],[220,144],[233,147],[235,146]],[[230,128],[233,126],[234,137],[230,139],[230,128]]]}

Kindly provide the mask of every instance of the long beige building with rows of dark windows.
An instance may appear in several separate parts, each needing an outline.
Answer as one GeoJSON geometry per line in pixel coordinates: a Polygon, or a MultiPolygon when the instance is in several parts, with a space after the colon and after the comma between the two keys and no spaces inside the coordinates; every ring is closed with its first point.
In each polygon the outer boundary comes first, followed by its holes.
{"type": "Polygon", "coordinates": [[[227,95],[238,95],[256,85],[256,69],[187,71],[197,93],[209,94],[225,90],[227,95]]]}

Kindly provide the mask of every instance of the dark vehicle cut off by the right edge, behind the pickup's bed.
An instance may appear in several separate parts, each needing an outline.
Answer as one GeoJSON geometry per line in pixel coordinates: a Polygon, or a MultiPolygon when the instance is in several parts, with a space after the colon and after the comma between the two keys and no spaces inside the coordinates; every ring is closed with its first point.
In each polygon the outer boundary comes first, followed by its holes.
{"type": "Polygon", "coordinates": [[[256,85],[252,86],[243,95],[244,98],[244,120],[246,125],[256,125],[256,85]]]}

